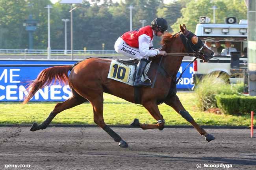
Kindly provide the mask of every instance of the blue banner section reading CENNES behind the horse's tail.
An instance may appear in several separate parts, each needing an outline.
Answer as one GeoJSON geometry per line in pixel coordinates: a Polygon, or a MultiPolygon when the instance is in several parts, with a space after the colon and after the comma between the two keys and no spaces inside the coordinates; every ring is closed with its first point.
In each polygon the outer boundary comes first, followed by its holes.
{"type": "MultiPolygon", "coordinates": [[[[23,101],[28,82],[48,66],[0,67],[0,101],[23,101]]],[[[65,101],[71,95],[68,85],[51,85],[37,91],[31,101],[65,101]]]]}

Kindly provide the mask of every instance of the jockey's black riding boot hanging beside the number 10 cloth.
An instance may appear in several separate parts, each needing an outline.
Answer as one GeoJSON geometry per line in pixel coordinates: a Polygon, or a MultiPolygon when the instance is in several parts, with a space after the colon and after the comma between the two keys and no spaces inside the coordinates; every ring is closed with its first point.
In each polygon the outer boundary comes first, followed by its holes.
{"type": "Polygon", "coordinates": [[[134,86],[135,87],[139,87],[139,86],[150,86],[150,82],[148,80],[146,80],[145,82],[141,81],[141,76],[144,72],[145,67],[148,64],[148,60],[145,58],[142,58],[138,65],[137,65],[137,73],[136,73],[136,77],[135,77],[135,81],[134,81],[134,86]]]}

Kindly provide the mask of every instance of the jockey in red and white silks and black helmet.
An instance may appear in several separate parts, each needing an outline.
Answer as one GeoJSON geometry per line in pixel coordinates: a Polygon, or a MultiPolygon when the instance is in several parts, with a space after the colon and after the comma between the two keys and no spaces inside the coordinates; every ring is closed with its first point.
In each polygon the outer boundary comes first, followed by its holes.
{"type": "Polygon", "coordinates": [[[153,48],[153,37],[161,36],[168,29],[167,21],[163,18],[155,18],[151,26],[124,33],[115,42],[115,51],[126,57],[140,60],[134,81],[134,86],[150,86],[150,82],[141,81],[141,76],[148,63],[148,57],[166,55],[166,51],[153,48]]]}

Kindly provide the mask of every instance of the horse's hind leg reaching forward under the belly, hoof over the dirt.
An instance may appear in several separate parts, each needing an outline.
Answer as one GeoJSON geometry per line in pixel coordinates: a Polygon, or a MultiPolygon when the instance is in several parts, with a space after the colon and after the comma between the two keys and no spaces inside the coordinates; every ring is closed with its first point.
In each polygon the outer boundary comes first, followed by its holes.
{"type": "Polygon", "coordinates": [[[119,142],[119,146],[121,148],[127,148],[128,144],[122,140],[122,138],[115,133],[108,125],[105,124],[103,118],[103,94],[90,100],[93,106],[93,119],[94,122],[100,126],[103,130],[105,130],[116,142],[119,142]]]}

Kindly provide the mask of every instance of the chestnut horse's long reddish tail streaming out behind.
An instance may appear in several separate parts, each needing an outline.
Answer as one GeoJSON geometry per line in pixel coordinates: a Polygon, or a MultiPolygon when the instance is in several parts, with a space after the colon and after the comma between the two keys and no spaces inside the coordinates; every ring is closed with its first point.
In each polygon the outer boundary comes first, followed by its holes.
{"type": "Polygon", "coordinates": [[[26,104],[38,90],[45,86],[56,84],[57,82],[68,84],[68,71],[71,68],[72,66],[55,66],[43,69],[37,78],[28,85],[28,95],[25,96],[23,104],[26,104]]]}

